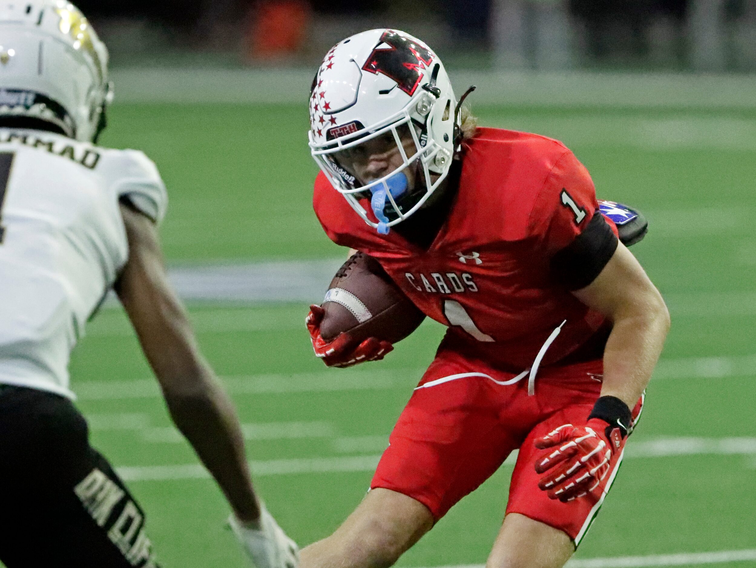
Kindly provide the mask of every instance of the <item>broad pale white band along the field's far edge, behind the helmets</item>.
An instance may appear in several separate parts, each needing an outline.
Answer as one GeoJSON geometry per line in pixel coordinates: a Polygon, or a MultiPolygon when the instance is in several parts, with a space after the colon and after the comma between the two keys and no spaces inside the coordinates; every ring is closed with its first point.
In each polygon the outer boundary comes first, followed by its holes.
{"type": "MultiPolygon", "coordinates": [[[[138,66],[113,69],[121,103],[300,104],[306,68],[209,69],[138,66]],[[218,89],[217,85],[224,88],[218,89]]],[[[603,71],[464,70],[459,85],[478,85],[479,105],[632,107],[636,109],[750,109],[756,106],[748,74],[615,73],[603,71]]],[[[255,112],[254,110],[252,112],[255,112]]],[[[556,117],[555,117],[556,118],[556,117]]]]}

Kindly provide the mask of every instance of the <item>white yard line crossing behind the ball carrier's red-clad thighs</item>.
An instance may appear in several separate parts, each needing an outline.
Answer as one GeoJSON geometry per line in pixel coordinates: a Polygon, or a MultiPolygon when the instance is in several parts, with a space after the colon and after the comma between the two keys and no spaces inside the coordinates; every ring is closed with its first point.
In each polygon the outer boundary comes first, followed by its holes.
{"type": "MultiPolygon", "coordinates": [[[[365,437],[377,440],[379,437],[365,437]]],[[[388,437],[380,437],[387,440],[388,437]]],[[[336,439],[338,440],[338,439],[336,439]]],[[[347,439],[349,440],[349,439],[347,439]]],[[[351,440],[358,440],[352,438],[351,440]]],[[[373,441],[375,441],[373,440],[373,441]]],[[[383,451],[386,444],[382,444],[383,451]]],[[[356,445],[353,449],[359,450],[356,445]]],[[[367,448],[366,448],[367,449],[367,448]]],[[[660,440],[645,440],[627,444],[624,458],[666,458],[678,455],[756,455],[756,438],[663,438],[660,440]]],[[[517,452],[512,452],[504,465],[512,467],[515,464],[517,452]]],[[[250,467],[255,475],[288,475],[334,473],[339,471],[373,471],[380,459],[380,454],[349,455],[331,458],[294,458],[274,459],[268,461],[250,461],[250,467]]],[[[199,464],[184,465],[148,465],[118,468],[125,479],[130,481],[160,481],[204,479],[208,472],[199,464]]]]}

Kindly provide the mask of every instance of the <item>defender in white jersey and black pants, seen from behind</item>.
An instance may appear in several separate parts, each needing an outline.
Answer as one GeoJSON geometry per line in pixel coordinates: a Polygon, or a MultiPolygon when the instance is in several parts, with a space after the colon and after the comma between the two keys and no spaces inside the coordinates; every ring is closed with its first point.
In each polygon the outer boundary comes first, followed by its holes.
{"type": "Polygon", "coordinates": [[[141,152],[91,144],[111,98],[107,59],[70,3],[0,0],[0,560],[157,566],[144,514],[89,445],[69,387],[70,351],[114,289],[247,554],[294,568],[296,545],[253,491],[234,407],[166,279],[160,174],[141,152]]]}

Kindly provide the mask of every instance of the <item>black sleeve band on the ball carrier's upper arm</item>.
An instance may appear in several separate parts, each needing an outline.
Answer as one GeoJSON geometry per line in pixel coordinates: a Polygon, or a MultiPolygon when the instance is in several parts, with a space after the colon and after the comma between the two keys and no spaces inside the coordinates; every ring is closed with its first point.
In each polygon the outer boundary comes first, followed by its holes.
{"type": "Polygon", "coordinates": [[[617,250],[618,239],[599,211],[588,226],[551,258],[553,279],[568,290],[585,288],[617,250]]]}

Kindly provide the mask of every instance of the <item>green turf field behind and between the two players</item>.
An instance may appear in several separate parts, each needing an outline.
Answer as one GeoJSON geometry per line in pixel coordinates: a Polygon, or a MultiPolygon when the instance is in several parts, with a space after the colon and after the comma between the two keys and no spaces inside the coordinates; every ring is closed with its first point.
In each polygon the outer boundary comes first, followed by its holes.
{"type": "MultiPolygon", "coordinates": [[[[587,165],[600,197],[636,205],[652,223],[634,252],[668,299],[673,327],[630,444],[646,449],[628,455],[577,557],[756,548],[756,359],[748,357],[756,353],[756,113],[476,111],[484,125],[559,137],[587,165]],[[676,448],[686,455],[671,455],[676,448]]],[[[343,254],[311,213],[316,168],[306,110],[120,105],[110,124],[103,143],[144,150],[169,185],[163,236],[171,263],[343,254]]],[[[301,544],[327,536],[364,495],[371,464],[442,333],[426,323],[382,363],[327,371],[312,357],[305,311],[305,304],[191,308],[246,424],[257,486],[301,544]]],[[[169,428],[117,311],[91,324],[72,375],[95,444],[115,465],[132,468],[125,471],[163,564],[243,566],[210,480],[144,479],[156,471],[197,474],[153,468],[196,459],[169,428]]],[[[510,471],[505,465],[454,508],[399,565],[485,562],[510,471]]],[[[756,560],[719,564],[745,565],[756,560]]]]}

